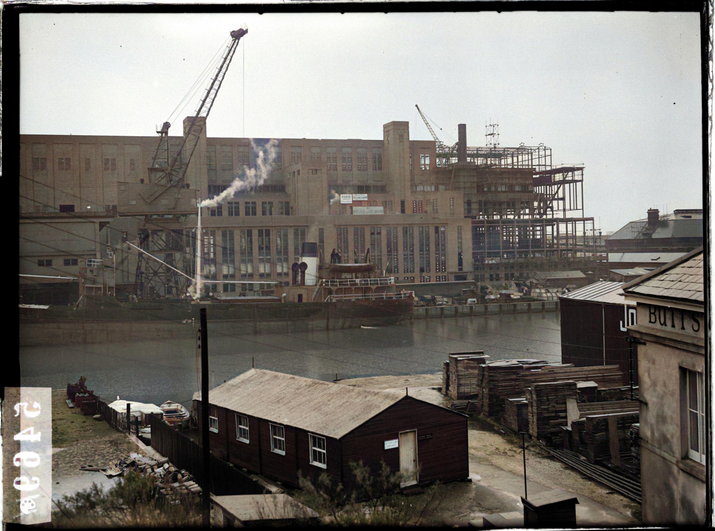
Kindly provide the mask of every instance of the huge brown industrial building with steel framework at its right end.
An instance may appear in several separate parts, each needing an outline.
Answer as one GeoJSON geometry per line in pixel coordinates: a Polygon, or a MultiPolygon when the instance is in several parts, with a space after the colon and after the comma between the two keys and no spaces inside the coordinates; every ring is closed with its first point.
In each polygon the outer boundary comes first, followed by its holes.
{"type": "MultiPolygon", "coordinates": [[[[202,209],[209,291],[289,282],[305,241],[318,243],[323,263],[333,250],[343,263],[360,262],[369,249],[400,283],[500,284],[537,271],[594,271],[583,167],[554,167],[543,145],[468,147],[464,125],[459,134],[448,148],[410,140],[408,122],[388,122],[382,140],[275,139],[275,164],[260,185],[202,209]]],[[[182,137],[164,138],[167,160],[182,157],[182,137]]],[[[218,195],[257,170],[260,152],[270,158],[269,141],[207,137],[204,125],[184,199],[218,195]]],[[[154,215],[138,215],[142,205],[129,194],[152,182],[157,137],[21,135],[20,142],[20,273],[77,276],[82,259],[111,258],[119,296],[184,294],[186,279],[157,274],[162,265],[138,260],[123,243],[194,275],[197,215],[156,203],[154,215]]],[[[23,281],[47,288],[64,279],[23,281]]],[[[40,293],[25,290],[26,301],[31,292],[40,293]]]]}

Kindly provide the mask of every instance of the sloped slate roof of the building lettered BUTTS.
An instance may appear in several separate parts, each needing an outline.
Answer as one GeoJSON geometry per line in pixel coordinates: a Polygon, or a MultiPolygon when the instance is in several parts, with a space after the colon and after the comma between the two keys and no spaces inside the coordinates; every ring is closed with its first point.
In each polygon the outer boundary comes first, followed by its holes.
{"type": "Polygon", "coordinates": [[[703,248],[623,285],[625,293],[704,303],[703,248]]]}

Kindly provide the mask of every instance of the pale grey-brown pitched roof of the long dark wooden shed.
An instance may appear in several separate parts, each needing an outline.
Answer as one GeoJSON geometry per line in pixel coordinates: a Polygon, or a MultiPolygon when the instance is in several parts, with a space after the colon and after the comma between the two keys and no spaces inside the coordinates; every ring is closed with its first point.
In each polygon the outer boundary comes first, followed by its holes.
{"type": "Polygon", "coordinates": [[[209,404],[340,439],[403,397],[250,369],[209,391],[209,404]]]}

